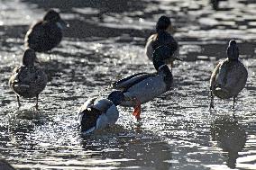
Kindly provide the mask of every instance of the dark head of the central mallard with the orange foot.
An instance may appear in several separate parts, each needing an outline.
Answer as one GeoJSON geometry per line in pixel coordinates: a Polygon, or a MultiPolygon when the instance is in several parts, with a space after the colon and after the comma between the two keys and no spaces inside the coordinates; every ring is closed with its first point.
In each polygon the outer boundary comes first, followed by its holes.
{"type": "Polygon", "coordinates": [[[175,52],[176,49],[171,48],[169,46],[160,46],[157,49],[154,50],[152,60],[153,60],[153,65],[156,68],[156,70],[159,70],[161,66],[164,66],[164,60],[172,58],[177,59],[177,60],[182,60],[181,58],[177,58],[173,56],[173,53],[175,52]]]}

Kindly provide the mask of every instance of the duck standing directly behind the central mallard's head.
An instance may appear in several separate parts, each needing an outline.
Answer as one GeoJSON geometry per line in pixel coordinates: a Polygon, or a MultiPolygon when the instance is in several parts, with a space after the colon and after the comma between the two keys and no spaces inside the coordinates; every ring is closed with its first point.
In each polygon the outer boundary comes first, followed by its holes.
{"type": "MultiPolygon", "coordinates": [[[[156,24],[156,32],[152,34],[146,43],[145,53],[147,57],[152,60],[152,54],[154,49],[159,46],[169,45],[172,50],[174,50],[173,54],[175,58],[178,57],[178,42],[171,36],[173,32],[173,28],[169,17],[160,16],[159,21],[156,24]]],[[[173,67],[173,58],[166,58],[166,64],[170,64],[171,68],[173,67]]]]}

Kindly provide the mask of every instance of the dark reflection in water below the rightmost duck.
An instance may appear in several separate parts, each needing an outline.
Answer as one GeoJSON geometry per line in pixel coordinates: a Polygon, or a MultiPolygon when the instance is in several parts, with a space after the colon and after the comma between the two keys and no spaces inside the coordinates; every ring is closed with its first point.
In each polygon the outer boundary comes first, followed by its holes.
{"type": "Polygon", "coordinates": [[[218,146],[227,152],[226,165],[235,168],[238,152],[242,151],[246,142],[246,133],[235,119],[223,116],[215,119],[211,125],[212,140],[218,142],[218,146]]]}

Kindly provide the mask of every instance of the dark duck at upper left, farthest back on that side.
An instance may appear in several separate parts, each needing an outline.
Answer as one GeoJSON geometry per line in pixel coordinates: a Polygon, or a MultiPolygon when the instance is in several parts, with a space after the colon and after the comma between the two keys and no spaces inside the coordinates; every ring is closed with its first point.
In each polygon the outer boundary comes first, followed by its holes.
{"type": "Polygon", "coordinates": [[[39,22],[27,31],[25,47],[38,52],[48,51],[56,47],[62,39],[62,30],[69,26],[61,20],[59,13],[50,9],[39,22]]]}

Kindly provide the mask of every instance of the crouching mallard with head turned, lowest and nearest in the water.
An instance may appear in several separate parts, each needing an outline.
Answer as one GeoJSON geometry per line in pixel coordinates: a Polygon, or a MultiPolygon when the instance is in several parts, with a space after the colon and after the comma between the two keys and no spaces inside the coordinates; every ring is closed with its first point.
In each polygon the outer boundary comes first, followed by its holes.
{"type": "Polygon", "coordinates": [[[81,132],[87,134],[113,125],[119,118],[116,106],[123,101],[123,98],[123,93],[114,91],[108,95],[107,99],[87,100],[79,110],[81,132]]]}

